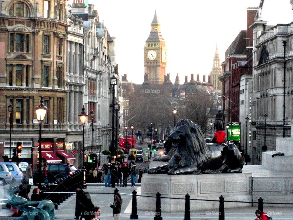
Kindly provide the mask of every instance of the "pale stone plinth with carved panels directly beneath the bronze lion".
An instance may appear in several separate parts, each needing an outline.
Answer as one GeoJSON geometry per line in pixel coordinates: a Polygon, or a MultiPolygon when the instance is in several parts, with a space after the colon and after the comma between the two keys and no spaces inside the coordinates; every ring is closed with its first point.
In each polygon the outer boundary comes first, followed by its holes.
{"type": "MultiPolygon", "coordinates": [[[[251,201],[251,174],[201,174],[201,175],[167,175],[144,174],[141,183],[141,195],[190,199],[251,201]]],[[[250,206],[246,203],[225,203],[225,207],[250,206]]],[[[139,210],[154,211],[156,198],[137,198],[139,210]]],[[[165,212],[184,211],[185,200],[161,199],[161,210],[165,212]]],[[[190,201],[190,211],[219,208],[219,202],[190,201]]]]}

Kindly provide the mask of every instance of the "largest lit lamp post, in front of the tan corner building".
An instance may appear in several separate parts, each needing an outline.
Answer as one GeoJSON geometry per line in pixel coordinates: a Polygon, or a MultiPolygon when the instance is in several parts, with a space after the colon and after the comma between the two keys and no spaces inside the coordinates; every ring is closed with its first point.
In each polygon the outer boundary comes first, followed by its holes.
{"type": "Polygon", "coordinates": [[[37,120],[39,121],[39,177],[42,176],[42,122],[45,118],[48,108],[43,104],[41,96],[40,105],[36,107],[37,120]]]}

